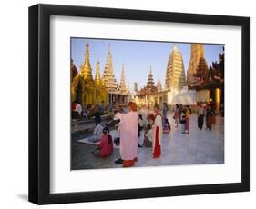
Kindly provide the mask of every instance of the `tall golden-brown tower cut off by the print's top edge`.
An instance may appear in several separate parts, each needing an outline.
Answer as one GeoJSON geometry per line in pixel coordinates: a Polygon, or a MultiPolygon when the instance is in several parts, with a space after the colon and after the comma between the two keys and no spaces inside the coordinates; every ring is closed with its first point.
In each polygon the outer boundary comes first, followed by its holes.
{"type": "Polygon", "coordinates": [[[197,67],[199,65],[200,58],[204,57],[204,45],[203,44],[191,44],[189,68],[187,72],[187,82],[189,85],[195,83],[194,75],[197,73],[197,67]]]}

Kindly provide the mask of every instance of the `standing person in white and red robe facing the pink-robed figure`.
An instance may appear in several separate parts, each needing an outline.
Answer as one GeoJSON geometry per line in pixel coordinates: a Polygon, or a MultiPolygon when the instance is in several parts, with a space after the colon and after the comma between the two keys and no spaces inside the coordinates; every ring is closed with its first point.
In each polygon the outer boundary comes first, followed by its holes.
{"type": "Polygon", "coordinates": [[[158,158],[161,155],[161,140],[162,140],[162,133],[163,133],[163,127],[162,127],[162,116],[160,114],[160,108],[159,105],[156,104],[154,106],[154,112],[155,112],[155,120],[153,124],[153,158],[158,158]]]}

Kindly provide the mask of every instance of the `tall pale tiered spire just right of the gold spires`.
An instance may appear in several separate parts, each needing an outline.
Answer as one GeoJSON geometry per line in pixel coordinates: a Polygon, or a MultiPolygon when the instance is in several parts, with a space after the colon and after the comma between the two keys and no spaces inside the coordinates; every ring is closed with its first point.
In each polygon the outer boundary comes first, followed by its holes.
{"type": "Polygon", "coordinates": [[[104,85],[107,87],[108,93],[117,93],[118,83],[114,75],[110,45],[108,45],[107,63],[105,65],[104,73],[102,75],[102,80],[104,85]]]}

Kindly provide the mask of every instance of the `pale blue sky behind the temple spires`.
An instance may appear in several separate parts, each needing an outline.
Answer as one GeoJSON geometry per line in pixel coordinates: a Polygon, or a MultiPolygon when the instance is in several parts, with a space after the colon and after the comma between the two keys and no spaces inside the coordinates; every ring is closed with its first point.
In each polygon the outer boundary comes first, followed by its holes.
{"type": "MultiPolygon", "coordinates": [[[[159,75],[161,83],[164,86],[169,54],[174,44],[178,46],[183,56],[185,73],[188,70],[190,44],[71,38],[71,58],[77,66],[77,70],[84,63],[86,40],[89,44],[90,64],[93,70],[93,76],[95,76],[97,60],[100,62],[100,75],[103,74],[108,55],[108,44],[110,44],[114,73],[118,84],[120,82],[122,64],[124,64],[126,84],[129,83],[130,88],[133,88],[134,82],[138,82],[139,88],[146,85],[150,65],[152,66],[155,83],[157,83],[159,75]]],[[[223,45],[204,45],[204,56],[208,65],[212,61],[219,60],[219,53],[222,52],[222,47],[223,45]]]]}

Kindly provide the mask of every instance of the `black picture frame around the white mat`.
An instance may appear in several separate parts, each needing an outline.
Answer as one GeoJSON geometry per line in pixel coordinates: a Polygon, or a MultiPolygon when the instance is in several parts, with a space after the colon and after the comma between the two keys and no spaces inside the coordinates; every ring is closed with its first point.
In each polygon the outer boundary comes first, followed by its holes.
{"type": "Polygon", "coordinates": [[[250,18],[71,5],[29,7],[29,201],[66,204],[250,190],[250,18]],[[50,194],[50,16],[241,26],[241,183],[50,194]]]}

